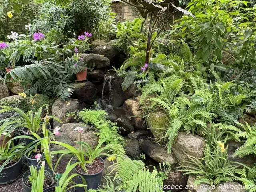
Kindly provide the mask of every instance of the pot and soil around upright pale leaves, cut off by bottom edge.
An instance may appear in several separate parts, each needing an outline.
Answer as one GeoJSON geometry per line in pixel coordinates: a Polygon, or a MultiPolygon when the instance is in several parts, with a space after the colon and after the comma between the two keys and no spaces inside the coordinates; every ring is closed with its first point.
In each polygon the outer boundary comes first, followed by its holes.
{"type": "MultiPolygon", "coordinates": [[[[22,177],[22,192],[31,192],[32,183],[28,179],[30,170],[24,173],[22,177]]],[[[52,170],[44,168],[44,189],[51,187],[54,184],[54,176],[52,170]]]]}

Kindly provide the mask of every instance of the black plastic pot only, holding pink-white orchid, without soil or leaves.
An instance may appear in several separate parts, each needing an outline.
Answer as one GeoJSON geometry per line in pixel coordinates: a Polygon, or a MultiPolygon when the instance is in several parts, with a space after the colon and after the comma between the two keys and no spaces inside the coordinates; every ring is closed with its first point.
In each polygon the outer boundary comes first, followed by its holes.
{"type": "MultiPolygon", "coordinates": [[[[104,160],[101,157],[98,157],[98,158],[104,163],[104,160]]],[[[104,168],[105,168],[105,163],[104,163],[104,168]]],[[[86,180],[87,190],[89,190],[89,189],[98,189],[102,179],[104,168],[100,172],[92,175],[82,174],[76,169],[76,167],[75,167],[75,170],[77,174],[80,174],[86,180]]],[[[82,179],[79,176],[76,176],[75,182],[77,184],[82,184],[82,179]]],[[[83,187],[76,187],[76,192],[85,192],[85,191],[83,187]]]]}

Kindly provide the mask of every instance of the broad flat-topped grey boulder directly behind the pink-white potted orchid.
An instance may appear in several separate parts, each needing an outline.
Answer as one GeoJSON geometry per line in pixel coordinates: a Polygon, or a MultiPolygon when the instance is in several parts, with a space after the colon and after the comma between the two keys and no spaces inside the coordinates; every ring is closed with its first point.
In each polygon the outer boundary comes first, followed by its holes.
{"type": "MultiPolygon", "coordinates": [[[[88,143],[92,148],[96,147],[98,145],[99,136],[94,134],[94,128],[80,123],[63,124],[59,130],[60,136],[55,136],[56,141],[66,143],[77,148],[78,144],[75,141],[78,141],[78,132],[74,129],[78,127],[83,128],[81,140],[88,143]]],[[[60,146],[55,146],[54,148],[61,149],[60,146]]]]}

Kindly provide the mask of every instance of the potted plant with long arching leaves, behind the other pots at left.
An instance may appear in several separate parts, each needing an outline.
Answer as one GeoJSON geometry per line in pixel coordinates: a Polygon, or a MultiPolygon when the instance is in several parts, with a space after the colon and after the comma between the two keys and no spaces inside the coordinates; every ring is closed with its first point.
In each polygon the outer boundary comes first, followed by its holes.
{"type": "MultiPolygon", "coordinates": [[[[43,122],[44,118],[41,117],[41,114],[42,114],[42,108],[44,106],[46,106],[46,105],[43,105],[42,107],[40,107],[38,109],[38,112],[34,112],[33,110],[30,110],[27,112],[27,114],[24,113],[19,108],[13,108],[10,106],[0,106],[2,108],[0,110],[0,112],[6,112],[8,110],[13,110],[13,111],[17,112],[21,116],[21,118],[9,118],[9,119],[18,121],[18,126],[22,127],[23,134],[30,136],[31,138],[35,138],[32,134],[32,132],[33,132],[33,133],[38,134],[38,136],[40,136],[42,138],[44,136],[43,129],[42,129],[42,122],[43,122]]],[[[47,116],[47,118],[54,118],[55,120],[61,122],[58,118],[56,118],[54,116],[47,116]]],[[[50,129],[49,123],[47,123],[46,126],[48,129],[50,129]]],[[[25,139],[25,141],[26,141],[26,144],[29,144],[33,140],[25,139]]]]}

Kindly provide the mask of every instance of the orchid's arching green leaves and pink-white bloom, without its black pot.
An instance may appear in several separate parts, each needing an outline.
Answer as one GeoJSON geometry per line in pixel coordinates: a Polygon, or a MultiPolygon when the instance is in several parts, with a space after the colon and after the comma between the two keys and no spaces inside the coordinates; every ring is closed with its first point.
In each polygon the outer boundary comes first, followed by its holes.
{"type": "Polygon", "coordinates": [[[79,145],[78,148],[74,148],[73,146],[63,142],[58,142],[58,141],[51,142],[52,144],[57,144],[66,148],[66,150],[57,150],[57,151],[50,152],[50,154],[62,154],[58,159],[58,161],[56,162],[54,169],[56,169],[58,162],[64,155],[71,154],[77,159],[79,166],[84,170],[84,172],[88,173],[86,167],[90,167],[97,157],[102,155],[110,156],[110,154],[104,153],[105,150],[110,149],[110,144],[106,145],[103,148],[100,148],[102,144],[106,142],[106,140],[110,139],[110,137],[106,137],[100,140],[98,146],[96,146],[95,149],[92,149],[92,147],[88,143],[83,142],[81,140],[81,133],[83,131],[83,128],[77,127],[75,130],[77,130],[78,132],[78,141],[76,141],[76,143],[79,145]]]}

